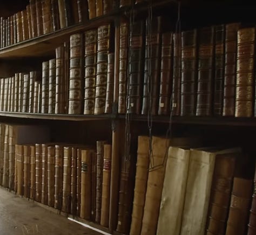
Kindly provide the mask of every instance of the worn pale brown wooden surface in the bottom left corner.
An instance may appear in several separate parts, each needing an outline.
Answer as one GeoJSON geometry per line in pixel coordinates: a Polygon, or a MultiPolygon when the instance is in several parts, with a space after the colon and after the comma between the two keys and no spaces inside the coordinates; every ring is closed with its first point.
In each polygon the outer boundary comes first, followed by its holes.
{"type": "Polygon", "coordinates": [[[1,235],[98,235],[64,216],[0,188],[1,235]]]}

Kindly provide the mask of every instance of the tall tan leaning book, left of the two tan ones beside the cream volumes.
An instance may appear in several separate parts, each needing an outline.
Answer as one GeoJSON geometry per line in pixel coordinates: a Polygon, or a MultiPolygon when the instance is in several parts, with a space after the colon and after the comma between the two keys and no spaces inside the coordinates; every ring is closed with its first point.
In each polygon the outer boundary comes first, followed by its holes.
{"type": "Polygon", "coordinates": [[[149,174],[147,170],[149,168],[149,144],[149,137],[138,136],[136,176],[130,234],[140,234],[142,229],[147,177],[149,174]]]}

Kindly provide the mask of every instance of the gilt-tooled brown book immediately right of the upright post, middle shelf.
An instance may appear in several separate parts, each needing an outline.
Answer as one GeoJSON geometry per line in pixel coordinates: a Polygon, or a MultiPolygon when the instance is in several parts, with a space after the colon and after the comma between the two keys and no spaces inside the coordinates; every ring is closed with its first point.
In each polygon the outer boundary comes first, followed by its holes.
{"type": "Polygon", "coordinates": [[[128,65],[128,35],[129,24],[127,22],[120,24],[119,38],[119,77],[118,77],[118,113],[126,112],[126,83],[127,83],[127,65],[128,65]]]}

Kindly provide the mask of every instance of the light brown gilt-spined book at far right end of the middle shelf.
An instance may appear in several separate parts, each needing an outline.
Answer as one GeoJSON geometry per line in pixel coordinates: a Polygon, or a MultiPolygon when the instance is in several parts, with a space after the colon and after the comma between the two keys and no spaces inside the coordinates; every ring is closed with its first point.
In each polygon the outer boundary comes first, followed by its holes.
{"type": "Polygon", "coordinates": [[[237,37],[237,79],[235,116],[253,116],[255,27],[239,29],[237,37]]]}

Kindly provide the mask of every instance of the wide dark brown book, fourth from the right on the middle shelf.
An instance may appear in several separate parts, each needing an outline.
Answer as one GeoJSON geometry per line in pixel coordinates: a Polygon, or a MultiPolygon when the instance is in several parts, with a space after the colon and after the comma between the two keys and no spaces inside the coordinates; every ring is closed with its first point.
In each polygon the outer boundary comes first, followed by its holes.
{"type": "Polygon", "coordinates": [[[197,116],[212,115],[214,26],[199,30],[197,116]]]}

